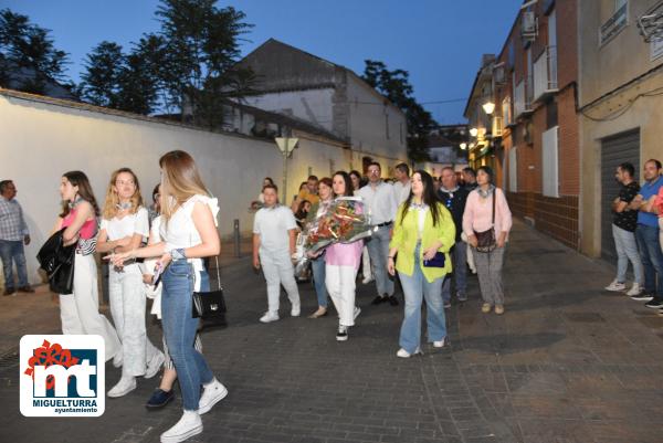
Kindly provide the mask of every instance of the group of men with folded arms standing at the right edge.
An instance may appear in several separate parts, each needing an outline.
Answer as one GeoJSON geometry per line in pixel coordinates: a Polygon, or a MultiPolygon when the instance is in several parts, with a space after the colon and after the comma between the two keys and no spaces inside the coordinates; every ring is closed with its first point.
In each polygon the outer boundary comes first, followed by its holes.
{"type": "Polygon", "coordinates": [[[617,276],[607,291],[625,293],[663,316],[663,168],[660,160],[644,164],[642,186],[635,167],[621,164],[614,178],[620,183],[611,202],[617,276]],[[627,287],[629,262],[633,284],[627,287]]]}

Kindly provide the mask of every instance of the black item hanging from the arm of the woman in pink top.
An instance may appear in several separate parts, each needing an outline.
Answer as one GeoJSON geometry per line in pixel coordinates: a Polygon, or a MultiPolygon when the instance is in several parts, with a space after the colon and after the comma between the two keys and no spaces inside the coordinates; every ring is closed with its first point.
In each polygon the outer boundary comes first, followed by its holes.
{"type": "Polygon", "coordinates": [[[65,246],[62,230],[55,232],[46,240],[36,254],[40,267],[49,277],[49,286],[57,294],[72,294],[74,292],[74,262],[76,257],[76,243],[65,246]]]}

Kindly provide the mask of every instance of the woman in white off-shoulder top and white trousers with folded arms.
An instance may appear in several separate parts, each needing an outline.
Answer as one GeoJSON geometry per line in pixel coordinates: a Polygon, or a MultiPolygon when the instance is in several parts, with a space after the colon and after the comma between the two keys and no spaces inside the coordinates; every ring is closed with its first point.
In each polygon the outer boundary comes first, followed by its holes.
{"type": "MultiPolygon", "coordinates": [[[[149,236],[147,209],[143,207],[140,184],[129,168],[113,172],[102,213],[98,252],[126,252],[149,236]]],[[[108,273],[110,314],[122,341],[122,352],[113,359],[122,366],[119,382],[108,397],[126,395],[136,389],[136,377],[154,377],[164,362],[164,354],[154,347],[145,329],[145,287],[135,260],[124,266],[110,266],[108,273]]]]}

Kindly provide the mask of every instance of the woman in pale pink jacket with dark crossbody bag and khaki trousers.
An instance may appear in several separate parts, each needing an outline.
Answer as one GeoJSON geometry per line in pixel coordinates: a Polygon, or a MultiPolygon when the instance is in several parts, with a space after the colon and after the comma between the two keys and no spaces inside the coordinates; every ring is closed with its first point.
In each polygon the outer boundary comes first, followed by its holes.
{"type": "Polygon", "coordinates": [[[467,243],[472,246],[476,263],[478,286],[484,300],[481,310],[488,314],[494,307],[495,314],[502,315],[504,314],[502,265],[513,222],[504,192],[493,184],[493,169],[487,166],[476,170],[477,187],[467,196],[463,213],[463,232],[467,235],[467,243]],[[491,230],[493,230],[494,242],[488,243],[492,245],[490,247],[480,245],[478,236],[485,236],[491,230]]]}

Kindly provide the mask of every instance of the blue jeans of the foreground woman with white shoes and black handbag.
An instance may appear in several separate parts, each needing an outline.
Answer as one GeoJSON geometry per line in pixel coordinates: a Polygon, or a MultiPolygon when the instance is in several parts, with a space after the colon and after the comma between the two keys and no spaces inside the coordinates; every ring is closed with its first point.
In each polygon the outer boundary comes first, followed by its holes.
{"type": "MultiPolygon", "coordinates": [[[[209,291],[207,272],[200,273],[201,291],[209,291]]],[[[202,354],[196,350],[198,318],[191,316],[193,270],[183,260],[172,262],[164,272],[161,323],[170,358],[177,370],[186,411],[198,410],[200,386],[214,378],[202,354]]]]}

